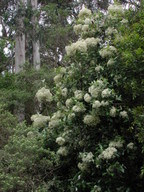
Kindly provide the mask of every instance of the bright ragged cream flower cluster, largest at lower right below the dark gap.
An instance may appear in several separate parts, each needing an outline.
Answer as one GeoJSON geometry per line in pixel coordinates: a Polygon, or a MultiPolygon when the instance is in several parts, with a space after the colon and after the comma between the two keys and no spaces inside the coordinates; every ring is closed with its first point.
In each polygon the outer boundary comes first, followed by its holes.
{"type": "Polygon", "coordinates": [[[99,159],[113,159],[116,156],[117,149],[115,147],[108,147],[99,156],[99,159]]]}

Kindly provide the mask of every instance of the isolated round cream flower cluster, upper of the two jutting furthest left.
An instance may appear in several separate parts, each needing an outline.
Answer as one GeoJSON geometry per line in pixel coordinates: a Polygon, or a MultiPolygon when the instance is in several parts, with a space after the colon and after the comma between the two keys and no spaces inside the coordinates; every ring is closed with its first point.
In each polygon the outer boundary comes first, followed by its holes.
{"type": "Polygon", "coordinates": [[[51,102],[53,100],[50,90],[46,89],[45,87],[38,90],[38,92],[36,93],[36,98],[39,102],[51,102]]]}

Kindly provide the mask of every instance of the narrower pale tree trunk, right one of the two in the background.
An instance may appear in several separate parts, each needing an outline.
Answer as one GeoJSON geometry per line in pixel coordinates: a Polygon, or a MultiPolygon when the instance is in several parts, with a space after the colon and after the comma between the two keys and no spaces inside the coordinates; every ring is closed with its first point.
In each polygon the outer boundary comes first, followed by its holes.
{"type": "MultiPolygon", "coordinates": [[[[33,11],[37,10],[37,6],[38,6],[37,0],[31,0],[31,6],[32,6],[33,11]]],[[[39,40],[37,38],[38,19],[34,14],[32,16],[32,25],[33,25],[33,31],[32,31],[33,66],[36,69],[40,69],[40,51],[39,51],[40,44],[39,44],[39,40]]]]}

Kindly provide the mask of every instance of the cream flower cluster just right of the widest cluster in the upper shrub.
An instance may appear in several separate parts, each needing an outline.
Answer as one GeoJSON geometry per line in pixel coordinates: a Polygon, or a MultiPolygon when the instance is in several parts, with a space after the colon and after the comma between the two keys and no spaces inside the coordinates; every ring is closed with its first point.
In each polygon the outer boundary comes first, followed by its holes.
{"type": "Polygon", "coordinates": [[[106,46],[99,51],[99,54],[102,58],[105,58],[105,57],[111,57],[116,52],[117,49],[114,46],[106,46]]]}

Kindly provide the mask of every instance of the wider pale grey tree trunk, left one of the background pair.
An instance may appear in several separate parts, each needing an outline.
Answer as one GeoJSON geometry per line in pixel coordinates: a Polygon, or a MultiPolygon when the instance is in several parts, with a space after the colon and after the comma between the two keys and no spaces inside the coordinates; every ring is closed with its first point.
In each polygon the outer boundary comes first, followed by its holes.
{"type": "MultiPolygon", "coordinates": [[[[20,6],[25,5],[25,0],[17,1],[17,10],[20,6]]],[[[20,72],[23,69],[25,63],[25,33],[23,16],[17,16],[17,29],[15,36],[15,73],[20,72]]]]}

